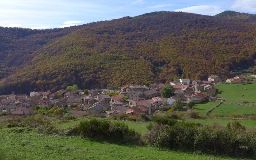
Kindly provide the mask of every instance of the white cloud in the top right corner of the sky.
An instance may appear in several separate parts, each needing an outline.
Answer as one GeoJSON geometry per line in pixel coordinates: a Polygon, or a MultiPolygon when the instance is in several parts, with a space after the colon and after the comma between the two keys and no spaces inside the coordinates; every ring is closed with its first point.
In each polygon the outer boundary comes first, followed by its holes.
{"type": "Polygon", "coordinates": [[[231,8],[241,12],[256,12],[255,0],[235,0],[231,8]]]}

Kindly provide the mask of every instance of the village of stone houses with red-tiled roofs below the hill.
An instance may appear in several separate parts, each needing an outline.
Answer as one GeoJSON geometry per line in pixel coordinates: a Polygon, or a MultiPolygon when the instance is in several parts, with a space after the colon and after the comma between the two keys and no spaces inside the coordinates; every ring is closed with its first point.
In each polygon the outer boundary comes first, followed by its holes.
{"type": "MultiPolygon", "coordinates": [[[[181,78],[179,81],[172,81],[169,84],[154,83],[149,86],[130,84],[117,91],[108,89],[66,91],[61,89],[54,93],[45,91],[30,92],[29,95],[1,95],[0,113],[14,117],[30,116],[36,114],[36,110],[39,108],[55,107],[56,110],[57,108],[69,108],[67,116],[101,114],[118,117],[125,114],[138,117],[140,114],[152,115],[156,110],[161,110],[166,106],[182,110],[182,108],[175,108],[174,103],[177,100],[180,100],[182,106],[186,106],[191,101],[202,103],[207,100],[223,100],[216,97],[215,84],[243,83],[246,78],[246,76],[236,76],[223,81],[220,76],[211,75],[207,80],[191,81],[188,78],[181,78]],[[161,95],[166,86],[174,88],[173,96],[161,95]]],[[[185,109],[188,108],[185,107],[185,109]]]]}

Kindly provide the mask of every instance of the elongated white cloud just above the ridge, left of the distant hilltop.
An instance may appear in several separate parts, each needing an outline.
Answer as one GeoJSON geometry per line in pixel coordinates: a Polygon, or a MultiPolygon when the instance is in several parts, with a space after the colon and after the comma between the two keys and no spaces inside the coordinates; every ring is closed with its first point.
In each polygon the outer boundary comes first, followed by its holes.
{"type": "Polygon", "coordinates": [[[210,16],[214,16],[224,11],[225,10],[223,10],[221,7],[216,5],[197,5],[197,6],[174,10],[174,12],[197,13],[197,14],[210,15],[210,16]]]}

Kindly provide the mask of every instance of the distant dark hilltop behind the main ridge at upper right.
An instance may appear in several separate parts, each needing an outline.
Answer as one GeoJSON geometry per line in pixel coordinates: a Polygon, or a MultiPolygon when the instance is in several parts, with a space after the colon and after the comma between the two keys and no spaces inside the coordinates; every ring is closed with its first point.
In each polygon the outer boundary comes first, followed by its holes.
{"type": "Polygon", "coordinates": [[[240,13],[240,12],[235,12],[235,11],[224,11],[215,16],[216,17],[225,17],[225,18],[233,19],[233,20],[241,20],[244,22],[256,23],[256,14],[240,13]]]}

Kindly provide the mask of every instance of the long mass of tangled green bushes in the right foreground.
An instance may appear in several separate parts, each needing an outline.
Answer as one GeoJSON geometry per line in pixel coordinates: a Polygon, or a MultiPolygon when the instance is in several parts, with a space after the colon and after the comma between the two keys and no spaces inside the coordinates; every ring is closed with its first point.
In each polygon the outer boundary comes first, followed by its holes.
{"type": "Polygon", "coordinates": [[[256,154],[256,132],[246,131],[238,121],[226,128],[220,125],[201,126],[185,121],[172,125],[149,124],[141,140],[160,148],[189,149],[213,154],[250,157],[256,154]]]}

